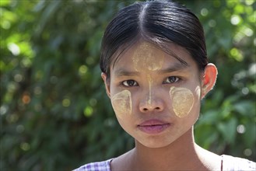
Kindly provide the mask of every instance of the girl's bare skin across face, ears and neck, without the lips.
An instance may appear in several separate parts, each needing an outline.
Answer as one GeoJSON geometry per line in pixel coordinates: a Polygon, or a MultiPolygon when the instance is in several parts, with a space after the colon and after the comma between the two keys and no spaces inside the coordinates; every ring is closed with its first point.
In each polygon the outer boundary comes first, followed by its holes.
{"type": "Polygon", "coordinates": [[[196,145],[193,134],[200,101],[215,84],[216,67],[209,64],[200,72],[184,48],[175,44],[169,47],[188,65],[140,41],[121,55],[114,68],[110,66],[109,81],[107,75],[102,74],[119,124],[135,138],[135,148],[115,158],[110,164],[111,170],[220,169],[219,155],[196,145]],[[147,60],[158,61],[157,67],[147,64],[147,60]],[[128,80],[130,83],[132,80],[132,84],[128,85],[128,80]],[[124,99],[121,102],[124,105],[117,103],[120,98],[124,99]],[[151,119],[163,120],[170,127],[159,134],[138,129],[139,124],[151,119]]]}

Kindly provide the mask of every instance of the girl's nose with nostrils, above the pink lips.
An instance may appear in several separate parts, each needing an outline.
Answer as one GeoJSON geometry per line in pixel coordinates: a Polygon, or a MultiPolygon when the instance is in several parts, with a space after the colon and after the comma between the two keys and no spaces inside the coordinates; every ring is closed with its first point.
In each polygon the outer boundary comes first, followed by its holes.
{"type": "Polygon", "coordinates": [[[149,92],[146,97],[144,96],[144,98],[141,99],[139,110],[142,113],[160,112],[163,110],[163,99],[160,99],[156,94],[149,92]]]}

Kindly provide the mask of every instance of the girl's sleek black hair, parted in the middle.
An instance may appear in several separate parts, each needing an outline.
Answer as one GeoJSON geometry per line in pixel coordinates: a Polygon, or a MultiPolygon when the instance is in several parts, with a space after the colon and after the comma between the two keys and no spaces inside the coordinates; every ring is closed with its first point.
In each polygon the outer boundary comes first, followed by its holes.
{"type": "Polygon", "coordinates": [[[107,78],[110,64],[139,39],[153,43],[169,54],[172,52],[168,43],[184,47],[200,70],[208,64],[204,30],[194,13],[175,2],[135,2],[117,13],[103,35],[100,69],[107,78]]]}

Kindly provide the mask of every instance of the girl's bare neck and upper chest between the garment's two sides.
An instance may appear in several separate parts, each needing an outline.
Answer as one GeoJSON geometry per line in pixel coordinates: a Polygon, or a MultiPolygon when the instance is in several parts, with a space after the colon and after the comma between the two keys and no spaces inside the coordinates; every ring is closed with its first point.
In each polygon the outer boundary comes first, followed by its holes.
{"type": "Polygon", "coordinates": [[[113,160],[111,170],[219,170],[219,155],[195,144],[193,128],[171,145],[148,148],[135,141],[135,148],[113,160]]]}

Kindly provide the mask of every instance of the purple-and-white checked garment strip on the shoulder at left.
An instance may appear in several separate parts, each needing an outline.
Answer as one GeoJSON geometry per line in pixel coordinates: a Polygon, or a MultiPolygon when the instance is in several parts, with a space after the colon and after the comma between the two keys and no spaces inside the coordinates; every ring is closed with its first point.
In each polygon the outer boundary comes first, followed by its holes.
{"type": "Polygon", "coordinates": [[[80,166],[77,169],[74,169],[73,171],[110,171],[110,162],[113,159],[108,159],[102,162],[90,162],[86,165],[80,166]]]}

